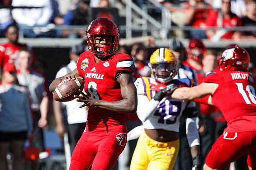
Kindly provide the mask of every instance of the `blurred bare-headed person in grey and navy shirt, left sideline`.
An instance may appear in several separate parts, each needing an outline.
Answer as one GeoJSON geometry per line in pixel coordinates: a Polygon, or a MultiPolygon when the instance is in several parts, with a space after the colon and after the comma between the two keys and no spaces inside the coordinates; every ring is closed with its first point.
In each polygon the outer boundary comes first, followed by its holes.
{"type": "Polygon", "coordinates": [[[34,137],[38,145],[37,147],[43,152],[44,136],[42,128],[47,125],[49,107],[45,78],[39,72],[32,70],[32,55],[31,51],[27,48],[20,49],[17,61],[20,66],[17,70],[17,78],[20,85],[28,88],[31,109],[34,114],[34,137]]]}

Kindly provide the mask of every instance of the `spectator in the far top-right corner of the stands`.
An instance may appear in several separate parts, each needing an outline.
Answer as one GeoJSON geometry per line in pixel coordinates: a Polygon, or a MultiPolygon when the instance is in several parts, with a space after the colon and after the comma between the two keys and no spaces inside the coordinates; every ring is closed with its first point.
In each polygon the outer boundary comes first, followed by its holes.
{"type": "MultiPolygon", "coordinates": [[[[256,0],[247,0],[246,2],[246,16],[242,18],[243,26],[256,26],[256,0]]],[[[251,31],[244,31],[246,39],[256,38],[256,29],[251,31]]]]}

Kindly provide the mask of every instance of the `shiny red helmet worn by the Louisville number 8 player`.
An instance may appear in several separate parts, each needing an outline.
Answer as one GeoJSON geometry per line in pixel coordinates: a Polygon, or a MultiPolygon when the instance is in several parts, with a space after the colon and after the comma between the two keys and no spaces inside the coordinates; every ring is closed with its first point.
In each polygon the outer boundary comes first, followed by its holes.
{"type": "Polygon", "coordinates": [[[107,57],[117,51],[119,31],[116,24],[106,17],[98,17],[93,20],[86,31],[88,48],[98,58],[107,57]],[[112,37],[112,42],[96,43],[95,37],[108,35],[112,37]]]}

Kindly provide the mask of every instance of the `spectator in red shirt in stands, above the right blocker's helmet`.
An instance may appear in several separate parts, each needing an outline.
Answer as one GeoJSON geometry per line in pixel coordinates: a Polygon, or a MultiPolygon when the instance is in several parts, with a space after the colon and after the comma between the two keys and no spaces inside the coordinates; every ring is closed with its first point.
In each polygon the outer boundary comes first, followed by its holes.
{"type": "Polygon", "coordinates": [[[236,14],[230,11],[230,0],[222,0],[221,13],[218,11],[212,11],[206,20],[206,25],[208,27],[222,27],[221,30],[207,30],[207,37],[217,42],[220,39],[233,39],[239,41],[241,32],[239,31],[229,31],[230,27],[241,26],[241,20],[236,14]],[[221,14],[222,13],[222,14],[221,14]],[[221,17],[222,16],[222,17],[221,17]],[[222,23],[222,24],[221,24],[222,23]]]}

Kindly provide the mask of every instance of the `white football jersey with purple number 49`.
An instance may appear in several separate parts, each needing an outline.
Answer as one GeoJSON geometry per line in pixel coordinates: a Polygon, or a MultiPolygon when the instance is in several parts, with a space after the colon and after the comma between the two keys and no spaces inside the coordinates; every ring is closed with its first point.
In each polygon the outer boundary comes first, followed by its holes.
{"type": "MultiPolygon", "coordinates": [[[[190,87],[193,82],[191,79],[175,79],[175,81],[181,84],[186,84],[190,87]]],[[[138,107],[143,107],[148,103],[155,95],[156,91],[154,86],[161,86],[159,82],[151,77],[140,77],[134,82],[137,88],[137,94],[145,97],[138,97],[138,107]]],[[[162,84],[163,85],[163,84],[162,84]]],[[[185,101],[171,99],[166,96],[163,98],[157,106],[156,112],[149,117],[143,126],[145,129],[164,129],[169,131],[179,131],[180,115],[186,108],[187,103],[185,101]]],[[[195,107],[195,102],[189,102],[187,107],[195,107]]],[[[143,114],[138,113],[137,114],[143,114]]],[[[139,116],[140,117],[140,116],[139,116]]]]}

